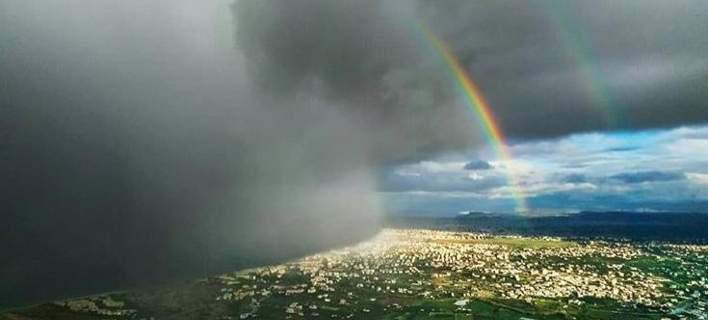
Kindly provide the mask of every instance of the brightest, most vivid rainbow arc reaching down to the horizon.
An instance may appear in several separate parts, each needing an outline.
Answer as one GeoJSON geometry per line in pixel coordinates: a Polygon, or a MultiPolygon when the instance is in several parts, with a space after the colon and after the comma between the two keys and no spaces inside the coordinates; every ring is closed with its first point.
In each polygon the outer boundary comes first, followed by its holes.
{"type": "MultiPolygon", "coordinates": [[[[489,141],[490,145],[501,159],[505,160],[505,162],[510,162],[513,157],[507,146],[506,138],[494,117],[489,102],[487,102],[479,86],[472,80],[469,72],[462,67],[460,60],[452,53],[452,50],[430,31],[430,29],[425,26],[422,26],[422,29],[427,39],[435,47],[435,50],[440,54],[443,60],[445,60],[445,64],[455,79],[455,83],[463,92],[465,102],[480,122],[487,141],[489,141]]],[[[509,170],[507,171],[507,180],[511,186],[514,201],[516,202],[516,211],[528,212],[526,194],[516,178],[513,169],[507,168],[507,170],[509,170]]]]}

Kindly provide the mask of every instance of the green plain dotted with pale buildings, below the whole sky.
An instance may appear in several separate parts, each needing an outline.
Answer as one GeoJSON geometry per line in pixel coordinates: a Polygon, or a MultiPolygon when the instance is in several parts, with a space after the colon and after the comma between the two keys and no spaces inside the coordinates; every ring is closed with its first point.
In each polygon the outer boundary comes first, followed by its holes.
{"type": "Polygon", "coordinates": [[[706,265],[708,246],[386,229],[281,265],[8,319],[705,319],[706,265]]]}

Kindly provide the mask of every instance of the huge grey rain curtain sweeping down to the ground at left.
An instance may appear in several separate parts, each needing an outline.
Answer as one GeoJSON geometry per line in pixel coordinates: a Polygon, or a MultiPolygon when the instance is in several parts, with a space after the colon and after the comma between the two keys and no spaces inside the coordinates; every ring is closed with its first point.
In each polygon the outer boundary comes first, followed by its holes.
{"type": "Polygon", "coordinates": [[[372,136],[313,95],[259,93],[230,4],[2,2],[0,308],[377,230],[372,136]]]}

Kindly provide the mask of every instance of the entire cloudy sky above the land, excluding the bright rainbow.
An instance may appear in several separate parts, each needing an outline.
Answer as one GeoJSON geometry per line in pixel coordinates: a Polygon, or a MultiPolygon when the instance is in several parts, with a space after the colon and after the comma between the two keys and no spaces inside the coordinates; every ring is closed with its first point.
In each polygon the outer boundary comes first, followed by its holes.
{"type": "Polygon", "coordinates": [[[705,30],[703,0],[0,0],[0,301],[510,212],[505,170],[538,210],[701,209],[705,30]]]}

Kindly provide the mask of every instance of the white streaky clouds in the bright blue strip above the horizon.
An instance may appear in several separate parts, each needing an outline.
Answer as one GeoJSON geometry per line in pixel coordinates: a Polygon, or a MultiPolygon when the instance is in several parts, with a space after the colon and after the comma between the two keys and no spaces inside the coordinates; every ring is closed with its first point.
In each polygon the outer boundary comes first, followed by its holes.
{"type": "Polygon", "coordinates": [[[485,200],[486,206],[512,211],[519,192],[532,205],[535,199],[547,199],[554,208],[569,209],[651,209],[661,203],[708,201],[708,126],[580,134],[516,144],[511,151],[513,159],[495,158],[491,149],[448,155],[405,166],[405,172],[417,174],[417,183],[435,186],[427,190],[426,199],[452,201],[450,207],[485,200]],[[467,159],[489,159],[494,170],[464,170],[467,159]],[[614,178],[648,173],[686,178],[656,183],[614,178]],[[507,183],[510,176],[518,186],[507,183]],[[495,183],[488,183],[490,179],[495,183]]]}

